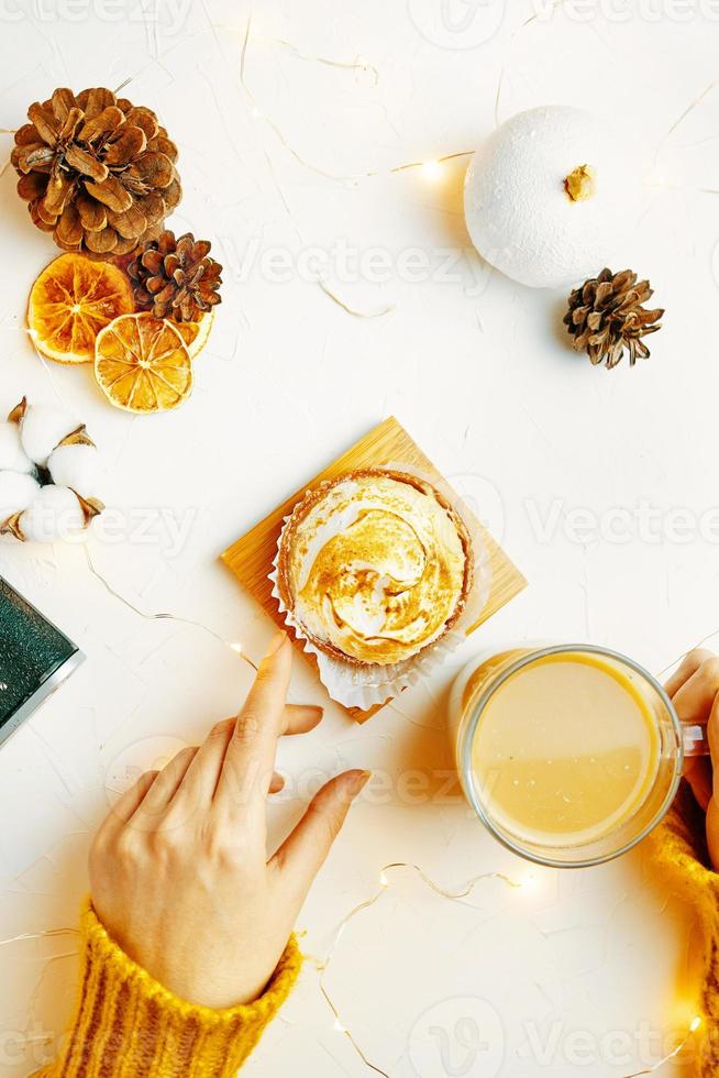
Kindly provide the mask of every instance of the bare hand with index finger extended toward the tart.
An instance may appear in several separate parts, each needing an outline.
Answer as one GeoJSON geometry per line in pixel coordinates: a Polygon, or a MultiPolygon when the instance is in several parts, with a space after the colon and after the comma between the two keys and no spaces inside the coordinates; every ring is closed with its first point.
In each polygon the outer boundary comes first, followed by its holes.
{"type": "Polygon", "coordinates": [[[236,718],[143,776],[92,845],[98,916],[131,958],[190,1002],[223,1008],[263,992],[369,777],[345,771],[327,783],[268,859],[277,739],[321,718],[318,708],[287,704],[290,671],[291,646],[281,634],[236,718]]]}

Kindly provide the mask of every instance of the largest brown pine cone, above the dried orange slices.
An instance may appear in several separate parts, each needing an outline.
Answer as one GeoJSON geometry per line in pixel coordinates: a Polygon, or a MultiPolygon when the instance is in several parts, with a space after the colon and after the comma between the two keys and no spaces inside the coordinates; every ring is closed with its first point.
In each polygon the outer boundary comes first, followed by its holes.
{"type": "Polygon", "coordinates": [[[57,89],[15,133],[18,194],[65,251],[122,255],[162,232],[181,187],[177,146],[151,109],[101,87],[57,89]]]}

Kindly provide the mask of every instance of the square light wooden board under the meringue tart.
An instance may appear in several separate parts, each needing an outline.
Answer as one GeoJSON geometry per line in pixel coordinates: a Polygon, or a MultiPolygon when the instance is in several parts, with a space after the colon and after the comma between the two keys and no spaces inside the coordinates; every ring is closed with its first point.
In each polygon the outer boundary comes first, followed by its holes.
{"type": "MultiPolygon", "coordinates": [[[[309,480],[305,486],[288,497],[281,505],[278,505],[269,516],[255,525],[246,535],[237,539],[222,554],[222,560],[232,570],[240,582],[247,588],[251,595],[265,608],[267,614],[276,622],[281,629],[287,629],[295,640],[296,646],[302,652],[305,659],[311,662],[317,669],[317,659],[311,652],[305,651],[301,641],[295,638],[290,626],[285,624],[283,615],[277,607],[277,601],[273,598],[273,584],[269,573],[273,570],[273,562],[277,553],[277,541],[283,528],[283,521],[288,516],[294,506],[303,497],[309,487],[317,486],[322,480],[336,479],[345,472],[351,472],[357,468],[378,468],[383,464],[409,464],[419,469],[428,480],[438,485],[445,482],[442,475],[428,460],[422,450],[409,437],[407,431],[397,420],[390,416],[384,422],[370,430],[355,446],[339,457],[332,464],[309,480]]],[[[456,496],[455,496],[456,497],[456,496]]],[[[458,501],[458,498],[457,498],[458,501]]],[[[475,517],[463,507],[463,516],[469,518],[469,524],[475,524],[478,534],[484,539],[489,552],[489,563],[491,565],[491,588],[489,598],[482,612],[482,617],[467,629],[467,635],[486,622],[487,618],[496,614],[498,609],[513,598],[527,585],[527,581],[512,564],[501,547],[495,542],[489,532],[475,517]]],[[[385,701],[389,703],[389,701],[385,701]]],[[[352,718],[357,723],[364,723],[372,715],[376,714],[384,704],[377,704],[368,711],[358,707],[346,708],[352,718]]]]}

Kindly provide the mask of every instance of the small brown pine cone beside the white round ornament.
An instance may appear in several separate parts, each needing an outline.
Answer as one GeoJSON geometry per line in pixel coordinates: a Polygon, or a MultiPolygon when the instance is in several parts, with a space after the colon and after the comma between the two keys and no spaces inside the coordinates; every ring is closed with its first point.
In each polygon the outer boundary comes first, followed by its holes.
{"type": "Polygon", "coordinates": [[[641,340],[661,329],[662,308],[646,310],[642,304],[653,295],[649,280],[637,283],[631,270],[612,273],[602,270],[598,277],[586,280],[571,294],[564,324],[574,338],[576,352],[586,352],[591,363],[617,366],[624,349],[630,366],[637,356],[649,359],[649,349],[641,340]]]}

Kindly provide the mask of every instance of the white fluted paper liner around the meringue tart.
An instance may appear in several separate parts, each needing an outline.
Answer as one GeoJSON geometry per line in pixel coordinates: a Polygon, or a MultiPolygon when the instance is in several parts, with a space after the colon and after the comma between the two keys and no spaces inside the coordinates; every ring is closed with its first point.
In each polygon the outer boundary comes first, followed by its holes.
{"type": "Polygon", "coordinates": [[[277,585],[277,563],[285,528],[291,514],[285,517],[283,530],[277,543],[277,553],[273,561],[273,571],[269,574],[269,580],[273,583],[272,594],[277,600],[279,612],[285,618],[285,622],[292,627],[295,635],[301,640],[305,650],[317,658],[320,681],[332,700],[335,700],[344,707],[358,707],[361,711],[367,711],[376,704],[384,704],[388,700],[398,696],[403,689],[408,689],[422,678],[429,676],[433,670],[442,666],[447,656],[456,651],[460,645],[466,640],[467,629],[480,617],[482,610],[487,604],[491,587],[489,551],[479,535],[476,522],[473,521],[466,507],[457,498],[452,487],[443,480],[438,481],[430,477],[420,469],[413,468],[411,464],[405,463],[405,461],[388,462],[379,466],[416,475],[418,479],[429,483],[446,498],[455,513],[462,518],[469,535],[474,553],[474,580],[469,593],[466,596],[464,609],[452,628],[441,636],[439,640],[435,640],[434,644],[423,648],[417,656],[389,666],[380,666],[379,663],[363,663],[362,666],[357,666],[352,662],[343,662],[341,659],[325,654],[311,640],[308,640],[292,612],[286,607],[281,600],[277,585]]]}

